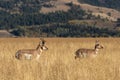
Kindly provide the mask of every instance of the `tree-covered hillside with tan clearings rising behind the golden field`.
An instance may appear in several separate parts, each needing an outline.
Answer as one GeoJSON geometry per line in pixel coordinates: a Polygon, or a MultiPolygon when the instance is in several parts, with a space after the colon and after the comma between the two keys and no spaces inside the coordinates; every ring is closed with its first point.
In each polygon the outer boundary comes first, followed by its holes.
{"type": "MultiPolygon", "coordinates": [[[[101,33],[105,33],[104,36],[106,34],[107,36],[117,37],[120,35],[120,31],[115,30],[117,26],[119,27],[119,22],[117,22],[120,18],[119,11],[89,5],[91,3],[86,0],[80,0],[80,2],[77,0],[2,0],[0,1],[0,29],[13,31],[12,33],[17,34],[17,36],[27,37],[36,37],[36,35],[37,37],[78,37],[78,35],[81,36],[80,34],[84,37],[86,37],[86,34],[90,37],[94,35],[100,37],[101,33]],[[78,21],[72,24],[72,27],[75,28],[70,30],[71,25],[66,24],[74,20],[78,21]],[[59,24],[63,25],[60,26],[59,24]],[[52,26],[52,28],[48,26],[52,26]],[[82,28],[77,28],[76,32],[76,27],[82,28]],[[83,29],[83,27],[85,28],[83,29]],[[53,30],[49,34],[51,29],[53,30]],[[80,32],[82,30],[84,32],[80,32]]],[[[94,0],[91,2],[96,3],[94,0]]],[[[98,2],[108,4],[106,0],[99,0],[98,2]]]]}

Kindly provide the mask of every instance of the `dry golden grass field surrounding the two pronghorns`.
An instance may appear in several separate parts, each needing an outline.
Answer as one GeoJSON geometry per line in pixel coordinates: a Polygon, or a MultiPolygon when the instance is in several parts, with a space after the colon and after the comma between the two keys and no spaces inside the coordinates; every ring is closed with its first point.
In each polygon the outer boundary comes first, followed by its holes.
{"type": "Polygon", "coordinates": [[[15,52],[35,48],[38,38],[0,39],[0,80],[119,80],[120,39],[100,38],[104,49],[96,58],[74,59],[78,48],[93,48],[96,38],[47,38],[49,50],[39,62],[19,61],[15,52]]]}

